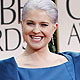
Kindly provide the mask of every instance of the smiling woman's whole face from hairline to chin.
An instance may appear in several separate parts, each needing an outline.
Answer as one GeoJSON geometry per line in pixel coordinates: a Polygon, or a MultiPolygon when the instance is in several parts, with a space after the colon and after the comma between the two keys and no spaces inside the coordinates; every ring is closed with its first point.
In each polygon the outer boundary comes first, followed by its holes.
{"type": "Polygon", "coordinates": [[[24,41],[34,50],[46,47],[55,30],[51,18],[43,10],[30,10],[22,22],[24,41]]]}

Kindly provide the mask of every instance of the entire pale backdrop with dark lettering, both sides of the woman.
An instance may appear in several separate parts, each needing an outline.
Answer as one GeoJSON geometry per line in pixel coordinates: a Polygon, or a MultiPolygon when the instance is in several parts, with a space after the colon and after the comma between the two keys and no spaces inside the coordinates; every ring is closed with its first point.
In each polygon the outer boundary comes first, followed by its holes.
{"type": "MultiPolygon", "coordinates": [[[[0,59],[18,57],[23,53],[20,25],[21,11],[26,0],[0,0],[0,59]]],[[[80,0],[57,0],[58,51],[80,52],[80,0]]]]}

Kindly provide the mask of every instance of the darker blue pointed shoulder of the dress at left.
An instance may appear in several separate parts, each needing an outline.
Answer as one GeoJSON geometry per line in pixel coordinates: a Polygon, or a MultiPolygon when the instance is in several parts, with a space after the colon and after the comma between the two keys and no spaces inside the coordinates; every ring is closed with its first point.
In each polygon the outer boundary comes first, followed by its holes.
{"type": "MultiPolygon", "coordinates": [[[[0,60],[0,79],[1,80],[12,80],[12,75],[15,75],[16,78],[16,63],[14,61],[14,58],[8,58],[4,60],[0,60]]],[[[16,79],[14,79],[16,80],[16,79]]]]}

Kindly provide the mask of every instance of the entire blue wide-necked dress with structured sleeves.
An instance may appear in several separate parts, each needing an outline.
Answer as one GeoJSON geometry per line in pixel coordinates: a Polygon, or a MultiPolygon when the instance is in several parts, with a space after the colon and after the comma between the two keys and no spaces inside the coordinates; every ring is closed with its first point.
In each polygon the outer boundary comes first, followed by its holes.
{"type": "Polygon", "coordinates": [[[0,80],[80,80],[80,53],[58,53],[68,62],[46,68],[21,68],[14,57],[0,61],[0,80]]]}

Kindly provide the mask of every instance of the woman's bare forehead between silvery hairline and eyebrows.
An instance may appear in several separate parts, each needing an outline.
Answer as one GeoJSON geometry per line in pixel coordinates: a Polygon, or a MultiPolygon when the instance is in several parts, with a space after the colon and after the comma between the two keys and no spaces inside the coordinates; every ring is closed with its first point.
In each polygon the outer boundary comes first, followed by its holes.
{"type": "Polygon", "coordinates": [[[52,22],[46,11],[34,9],[27,12],[25,20],[52,22]]]}

